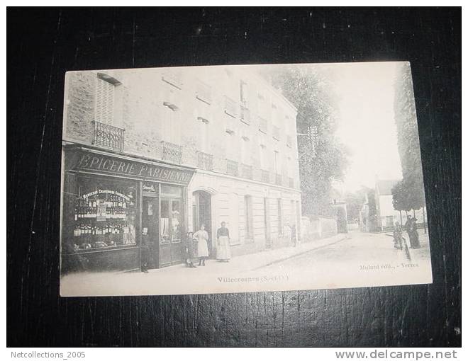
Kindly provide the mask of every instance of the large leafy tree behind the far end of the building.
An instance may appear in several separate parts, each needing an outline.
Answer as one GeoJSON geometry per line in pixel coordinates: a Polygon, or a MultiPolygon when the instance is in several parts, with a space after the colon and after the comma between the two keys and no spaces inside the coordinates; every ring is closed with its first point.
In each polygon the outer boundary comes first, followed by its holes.
{"type": "Polygon", "coordinates": [[[333,180],[342,180],[347,165],[345,147],[335,137],[337,99],[331,74],[318,67],[289,67],[269,74],[274,86],[296,106],[302,211],[306,216],[335,214],[330,207],[333,180]]]}

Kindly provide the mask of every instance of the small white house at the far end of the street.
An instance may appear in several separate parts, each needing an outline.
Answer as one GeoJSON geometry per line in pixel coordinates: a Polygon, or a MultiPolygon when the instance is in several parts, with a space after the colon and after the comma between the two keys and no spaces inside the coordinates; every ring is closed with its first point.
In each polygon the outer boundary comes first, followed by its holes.
{"type": "MultiPolygon", "coordinates": [[[[398,179],[392,180],[376,180],[375,183],[375,205],[377,208],[377,214],[379,216],[379,228],[384,229],[386,227],[393,227],[395,222],[400,224],[406,223],[406,212],[399,212],[394,210],[393,196],[391,195],[391,188],[398,183],[398,179]]],[[[418,223],[428,222],[428,219],[423,212],[423,208],[414,211],[418,223]]],[[[413,211],[408,212],[408,215],[413,216],[413,211]]]]}

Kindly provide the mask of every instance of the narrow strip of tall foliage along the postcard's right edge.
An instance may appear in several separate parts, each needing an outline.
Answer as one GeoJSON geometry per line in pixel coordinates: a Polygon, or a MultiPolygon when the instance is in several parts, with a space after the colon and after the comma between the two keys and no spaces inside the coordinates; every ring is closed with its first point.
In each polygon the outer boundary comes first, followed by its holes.
{"type": "Polygon", "coordinates": [[[397,65],[394,113],[403,181],[394,188],[396,210],[419,210],[424,206],[423,169],[421,167],[418,122],[414,103],[411,67],[397,65]]]}

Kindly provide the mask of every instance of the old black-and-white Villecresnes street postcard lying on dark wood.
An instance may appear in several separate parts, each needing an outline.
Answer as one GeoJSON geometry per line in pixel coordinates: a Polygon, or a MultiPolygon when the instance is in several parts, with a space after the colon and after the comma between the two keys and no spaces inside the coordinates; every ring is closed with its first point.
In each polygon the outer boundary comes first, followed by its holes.
{"type": "Polygon", "coordinates": [[[69,71],[60,294],[432,282],[408,62],[69,71]]]}

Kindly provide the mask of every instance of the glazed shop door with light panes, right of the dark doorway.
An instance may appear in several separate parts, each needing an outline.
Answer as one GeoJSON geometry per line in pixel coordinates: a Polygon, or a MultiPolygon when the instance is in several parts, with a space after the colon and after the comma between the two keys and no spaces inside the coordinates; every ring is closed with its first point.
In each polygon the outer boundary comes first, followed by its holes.
{"type": "Polygon", "coordinates": [[[182,202],[161,197],[160,267],[182,262],[182,202]]]}

